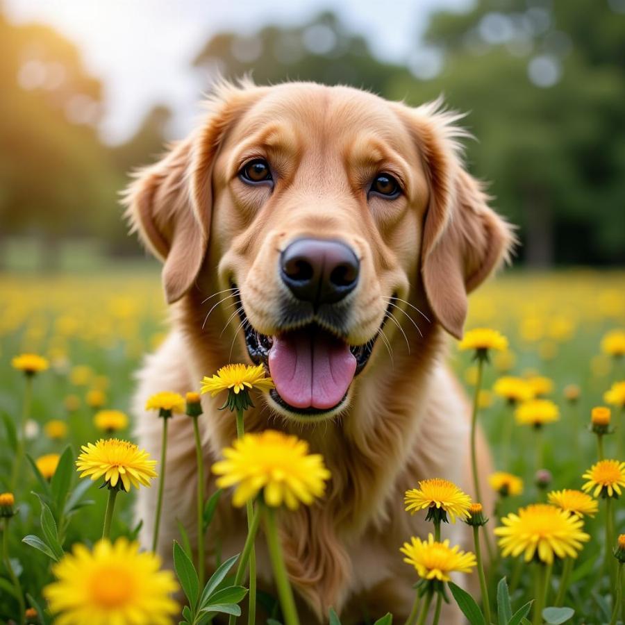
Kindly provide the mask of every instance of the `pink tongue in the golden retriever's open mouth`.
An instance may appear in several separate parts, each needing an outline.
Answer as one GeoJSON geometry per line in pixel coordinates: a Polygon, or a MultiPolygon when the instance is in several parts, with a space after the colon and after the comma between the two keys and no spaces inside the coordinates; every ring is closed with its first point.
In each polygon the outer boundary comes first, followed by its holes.
{"type": "Polygon", "coordinates": [[[296,331],[274,337],[269,372],[280,397],[295,408],[336,406],[353,380],[349,345],[325,332],[296,331]]]}

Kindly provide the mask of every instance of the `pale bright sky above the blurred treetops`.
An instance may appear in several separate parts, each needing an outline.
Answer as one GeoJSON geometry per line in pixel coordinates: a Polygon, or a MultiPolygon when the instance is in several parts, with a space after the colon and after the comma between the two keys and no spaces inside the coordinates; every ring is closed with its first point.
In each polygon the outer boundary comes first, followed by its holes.
{"type": "Polygon", "coordinates": [[[252,33],[266,24],[298,24],[330,8],[372,51],[401,62],[435,8],[463,10],[472,0],[5,0],[16,23],[44,22],[76,42],[87,69],[105,85],[103,140],[126,140],[147,110],[174,111],[170,132],[181,136],[199,113],[206,87],[191,60],[222,30],[252,33]],[[155,68],[157,68],[155,70],[155,68]]]}

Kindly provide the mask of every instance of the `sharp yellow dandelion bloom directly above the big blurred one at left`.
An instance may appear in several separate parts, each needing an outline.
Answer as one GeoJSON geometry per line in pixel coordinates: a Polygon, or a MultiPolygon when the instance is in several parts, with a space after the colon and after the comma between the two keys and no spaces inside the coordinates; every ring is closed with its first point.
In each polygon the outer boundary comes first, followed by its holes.
{"type": "Polygon", "coordinates": [[[76,469],[81,477],[104,481],[112,488],[121,487],[128,492],[133,485],[149,486],[150,478],[156,477],[156,460],[150,460],[149,453],[125,440],[100,439],[96,444],[81,447],[83,453],[76,460],[76,469]]]}

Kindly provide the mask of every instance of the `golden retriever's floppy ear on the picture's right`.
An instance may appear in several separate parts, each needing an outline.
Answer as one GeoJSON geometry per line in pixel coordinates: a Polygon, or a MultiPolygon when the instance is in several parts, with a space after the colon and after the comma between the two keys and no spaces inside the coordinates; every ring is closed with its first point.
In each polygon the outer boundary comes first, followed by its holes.
{"type": "Polygon", "coordinates": [[[412,127],[430,185],[421,251],[426,297],[438,322],[461,338],[467,294],[508,260],[514,237],[463,169],[458,139],[468,133],[456,126],[458,119],[441,112],[437,101],[413,111],[412,127]]]}

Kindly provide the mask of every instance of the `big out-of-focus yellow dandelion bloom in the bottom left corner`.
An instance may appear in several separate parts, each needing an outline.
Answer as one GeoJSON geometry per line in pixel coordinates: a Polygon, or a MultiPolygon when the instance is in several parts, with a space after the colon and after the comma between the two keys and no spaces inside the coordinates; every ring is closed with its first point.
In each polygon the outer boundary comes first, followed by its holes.
{"type": "Polygon", "coordinates": [[[100,540],[92,551],[76,544],[52,572],[43,594],[58,625],[170,625],[178,615],[174,574],[126,538],[100,540]]]}

